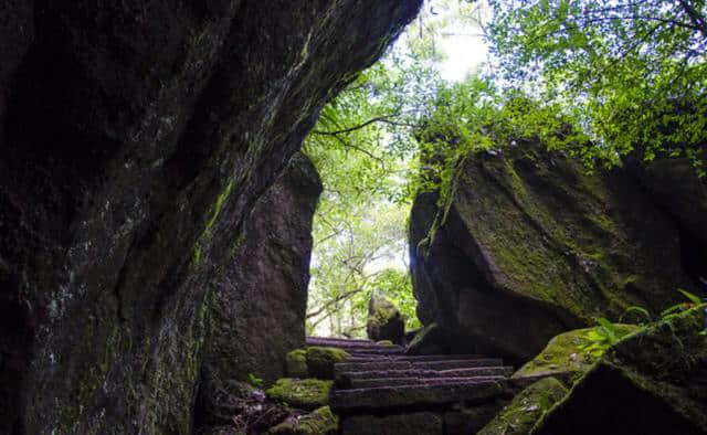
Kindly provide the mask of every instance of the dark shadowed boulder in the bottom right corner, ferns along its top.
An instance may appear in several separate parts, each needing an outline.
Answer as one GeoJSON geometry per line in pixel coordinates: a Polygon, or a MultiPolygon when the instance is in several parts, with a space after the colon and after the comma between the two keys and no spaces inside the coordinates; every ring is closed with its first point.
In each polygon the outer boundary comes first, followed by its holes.
{"type": "Polygon", "coordinates": [[[610,348],[534,428],[557,434],[706,434],[705,307],[610,348]]]}

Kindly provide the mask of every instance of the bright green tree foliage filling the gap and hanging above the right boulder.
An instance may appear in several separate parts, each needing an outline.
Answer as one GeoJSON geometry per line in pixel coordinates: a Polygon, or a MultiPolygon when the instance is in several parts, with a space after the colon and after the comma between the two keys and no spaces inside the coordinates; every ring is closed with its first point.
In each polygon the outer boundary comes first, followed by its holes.
{"type": "MultiPolygon", "coordinates": [[[[444,205],[469,152],[530,141],[581,158],[588,171],[626,158],[686,157],[704,176],[705,8],[690,0],[490,0],[484,13],[477,1],[428,2],[384,60],[324,108],[306,140],[325,184],[314,223],[308,331],[363,336],[373,290],[395,304],[408,328],[419,326],[403,254],[409,205],[431,190],[444,205]],[[485,68],[449,83],[439,45],[445,29],[460,23],[485,34],[490,57],[485,68]]],[[[506,172],[502,181],[514,200],[527,204],[506,172]]],[[[589,219],[615,233],[605,215],[589,219]]],[[[573,252],[572,237],[564,238],[573,252]]],[[[537,256],[524,256],[527,273],[542,274],[526,267],[537,266],[537,256]]]]}

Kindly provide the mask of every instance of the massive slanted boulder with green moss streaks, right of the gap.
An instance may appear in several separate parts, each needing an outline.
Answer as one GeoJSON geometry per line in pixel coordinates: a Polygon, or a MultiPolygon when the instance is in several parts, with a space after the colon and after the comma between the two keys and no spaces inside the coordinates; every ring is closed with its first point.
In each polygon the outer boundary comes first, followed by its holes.
{"type": "Polygon", "coordinates": [[[625,171],[590,176],[537,144],[468,156],[443,197],[413,204],[411,266],[419,318],[453,352],[526,361],[592,317],[659,312],[707,255],[682,255],[680,224],[625,171]]]}

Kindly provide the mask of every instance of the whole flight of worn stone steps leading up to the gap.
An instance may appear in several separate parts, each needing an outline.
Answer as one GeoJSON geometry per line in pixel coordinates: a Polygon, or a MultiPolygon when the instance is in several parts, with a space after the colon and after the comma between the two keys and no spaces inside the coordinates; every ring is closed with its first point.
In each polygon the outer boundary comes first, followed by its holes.
{"type": "Polygon", "coordinates": [[[474,434],[534,380],[514,380],[503,360],[482,356],[407,356],[401,346],[310,337],[351,357],[335,365],[331,410],[342,435],[474,434]]]}

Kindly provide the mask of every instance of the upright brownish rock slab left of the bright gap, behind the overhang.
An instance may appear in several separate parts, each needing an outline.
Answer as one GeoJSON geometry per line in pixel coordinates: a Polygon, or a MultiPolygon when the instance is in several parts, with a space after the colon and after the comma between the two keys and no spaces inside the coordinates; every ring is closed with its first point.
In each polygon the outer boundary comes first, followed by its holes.
{"type": "Polygon", "coordinates": [[[214,293],[204,362],[222,379],[271,384],[285,356],[305,343],[312,219],[321,192],[302,153],[257,201],[225,277],[214,293]]]}

